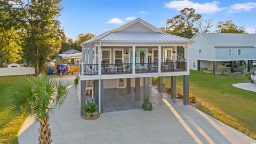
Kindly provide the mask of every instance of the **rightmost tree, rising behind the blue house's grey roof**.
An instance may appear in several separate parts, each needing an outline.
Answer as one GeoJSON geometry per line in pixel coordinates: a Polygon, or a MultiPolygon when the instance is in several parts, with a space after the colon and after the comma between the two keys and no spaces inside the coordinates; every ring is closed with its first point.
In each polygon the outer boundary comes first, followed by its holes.
{"type": "Polygon", "coordinates": [[[244,26],[236,26],[232,20],[223,22],[220,21],[217,24],[216,33],[246,33],[244,26]]]}

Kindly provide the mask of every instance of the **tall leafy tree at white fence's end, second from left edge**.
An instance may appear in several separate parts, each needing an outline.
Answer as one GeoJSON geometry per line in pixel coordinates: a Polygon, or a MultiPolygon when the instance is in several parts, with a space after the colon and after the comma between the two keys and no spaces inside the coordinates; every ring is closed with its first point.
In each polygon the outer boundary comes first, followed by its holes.
{"type": "Polygon", "coordinates": [[[60,51],[63,30],[57,19],[61,0],[31,0],[26,4],[17,0],[19,19],[24,35],[23,58],[35,67],[35,74],[43,71],[45,63],[60,51]]]}

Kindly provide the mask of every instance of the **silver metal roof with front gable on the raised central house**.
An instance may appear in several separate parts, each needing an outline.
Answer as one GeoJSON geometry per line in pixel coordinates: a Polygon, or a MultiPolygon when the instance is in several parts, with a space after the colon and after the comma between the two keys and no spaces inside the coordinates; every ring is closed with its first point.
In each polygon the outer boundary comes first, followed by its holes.
{"type": "Polygon", "coordinates": [[[163,31],[138,18],[115,29],[96,36],[81,45],[94,42],[194,42],[191,39],[163,33],[163,31]]]}

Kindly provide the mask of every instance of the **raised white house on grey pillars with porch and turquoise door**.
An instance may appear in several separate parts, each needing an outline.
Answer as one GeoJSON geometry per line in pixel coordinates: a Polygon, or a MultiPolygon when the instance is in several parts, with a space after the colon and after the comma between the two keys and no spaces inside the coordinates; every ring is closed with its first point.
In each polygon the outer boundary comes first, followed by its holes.
{"type": "Polygon", "coordinates": [[[183,76],[184,104],[187,105],[188,51],[192,42],[191,39],[163,33],[138,18],[82,43],[79,105],[82,108],[86,102],[93,100],[99,106],[99,113],[106,112],[105,105],[109,106],[113,101],[117,103],[120,98],[119,101],[132,105],[141,101],[140,95],[150,95],[151,77],[159,77],[158,91],[162,92],[164,76],[171,76],[172,98],[176,97],[175,77],[183,76]],[[185,51],[182,61],[177,60],[177,46],[183,46],[185,51]],[[125,91],[125,94],[120,94],[119,90],[125,91]],[[132,100],[125,101],[125,97],[132,100]]]}

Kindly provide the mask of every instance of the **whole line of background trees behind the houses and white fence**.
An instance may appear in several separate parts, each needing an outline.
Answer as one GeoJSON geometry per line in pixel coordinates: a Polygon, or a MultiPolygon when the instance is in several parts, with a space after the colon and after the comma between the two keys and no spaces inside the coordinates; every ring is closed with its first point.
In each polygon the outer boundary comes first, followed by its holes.
{"type": "MultiPolygon", "coordinates": [[[[0,1],[0,67],[3,63],[20,61],[35,68],[38,75],[47,61],[58,53],[75,49],[93,38],[91,33],[79,34],[74,41],[66,37],[58,17],[63,9],[61,0],[0,1]]],[[[202,19],[194,9],[185,8],[166,21],[165,33],[191,38],[195,33],[245,33],[233,21],[220,21],[211,31],[212,19],[202,19]]]]}

